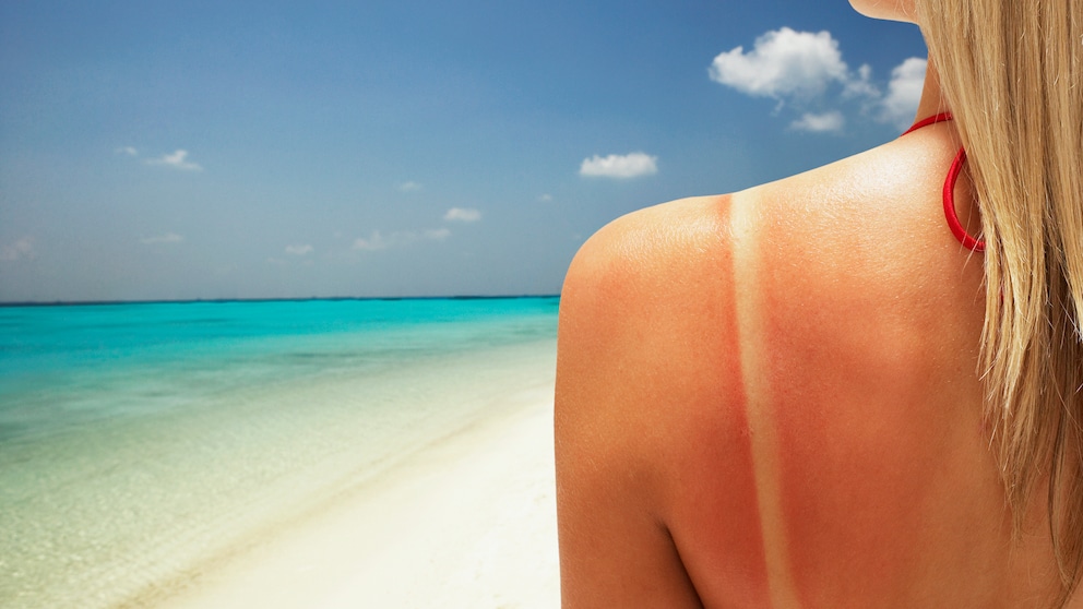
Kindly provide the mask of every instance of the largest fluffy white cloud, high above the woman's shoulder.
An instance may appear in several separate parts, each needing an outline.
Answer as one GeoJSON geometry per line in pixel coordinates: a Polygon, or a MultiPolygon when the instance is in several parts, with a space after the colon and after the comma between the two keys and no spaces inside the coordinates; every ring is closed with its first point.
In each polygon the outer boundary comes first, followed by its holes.
{"type": "Polygon", "coordinates": [[[753,49],[737,47],[714,58],[711,79],[749,95],[811,97],[832,82],[846,83],[849,69],[829,32],[813,34],[789,27],[767,32],[753,49]]]}

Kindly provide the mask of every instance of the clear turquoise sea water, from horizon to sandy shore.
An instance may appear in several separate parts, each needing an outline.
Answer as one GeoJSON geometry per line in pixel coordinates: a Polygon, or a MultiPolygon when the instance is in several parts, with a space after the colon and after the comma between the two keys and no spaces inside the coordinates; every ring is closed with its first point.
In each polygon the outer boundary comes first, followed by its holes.
{"type": "Polygon", "coordinates": [[[557,304],[0,307],[0,606],[152,606],[551,385],[557,304]]]}

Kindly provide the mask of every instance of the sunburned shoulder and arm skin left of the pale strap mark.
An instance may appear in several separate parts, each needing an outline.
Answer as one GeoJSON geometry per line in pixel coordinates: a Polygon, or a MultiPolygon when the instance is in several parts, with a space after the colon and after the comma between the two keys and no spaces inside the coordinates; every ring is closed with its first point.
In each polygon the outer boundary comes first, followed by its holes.
{"type": "Polygon", "coordinates": [[[767,606],[728,208],[638,212],[569,273],[556,417],[568,607],[767,606]]]}

